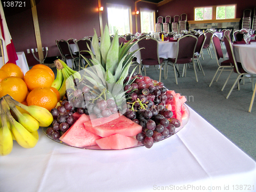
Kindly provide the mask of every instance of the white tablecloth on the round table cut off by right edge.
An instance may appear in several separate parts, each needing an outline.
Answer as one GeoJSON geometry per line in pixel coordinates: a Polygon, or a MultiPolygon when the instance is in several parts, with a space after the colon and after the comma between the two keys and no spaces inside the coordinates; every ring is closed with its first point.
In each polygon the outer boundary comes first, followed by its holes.
{"type": "Polygon", "coordinates": [[[234,56],[249,74],[256,74],[256,42],[250,45],[233,45],[234,56]]]}

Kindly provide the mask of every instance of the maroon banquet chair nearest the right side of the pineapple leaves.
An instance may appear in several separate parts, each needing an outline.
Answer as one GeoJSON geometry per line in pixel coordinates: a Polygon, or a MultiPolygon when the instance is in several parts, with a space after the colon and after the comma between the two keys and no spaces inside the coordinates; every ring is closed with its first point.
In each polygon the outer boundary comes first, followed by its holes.
{"type": "MultiPolygon", "coordinates": [[[[164,67],[164,59],[159,58],[158,54],[158,41],[152,37],[143,37],[138,42],[139,54],[141,61],[139,63],[139,73],[141,73],[141,67],[144,67],[144,73],[146,76],[145,66],[160,66],[159,70],[159,82],[161,81],[162,67],[164,67]]],[[[165,68],[164,68],[165,78],[165,68]]]]}

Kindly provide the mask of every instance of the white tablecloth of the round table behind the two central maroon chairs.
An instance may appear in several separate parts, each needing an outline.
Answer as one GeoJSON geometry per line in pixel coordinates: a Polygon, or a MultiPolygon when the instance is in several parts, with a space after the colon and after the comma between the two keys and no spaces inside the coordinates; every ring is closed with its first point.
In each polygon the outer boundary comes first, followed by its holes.
{"type": "MultiPolygon", "coordinates": [[[[134,46],[130,49],[131,52],[139,49],[138,44],[134,44],[134,46]]],[[[175,58],[177,55],[177,42],[169,42],[169,41],[158,41],[158,54],[160,58],[175,58]]],[[[137,62],[140,63],[140,54],[136,53],[135,57],[137,58],[137,62]]]]}

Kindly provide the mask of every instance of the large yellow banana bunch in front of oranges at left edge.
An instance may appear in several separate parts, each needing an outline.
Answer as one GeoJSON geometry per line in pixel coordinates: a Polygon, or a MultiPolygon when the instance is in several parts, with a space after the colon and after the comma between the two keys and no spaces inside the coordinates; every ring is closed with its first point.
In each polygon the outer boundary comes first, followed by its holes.
{"type": "Polygon", "coordinates": [[[47,109],[36,105],[24,105],[9,95],[0,99],[0,114],[0,155],[2,156],[11,153],[13,140],[24,148],[34,147],[39,138],[37,132],[39,126],[49,126],[53,121],[52,114],[47,109]],[[20,113],[16,106],[26,110],[28,114],[20,113]]]}

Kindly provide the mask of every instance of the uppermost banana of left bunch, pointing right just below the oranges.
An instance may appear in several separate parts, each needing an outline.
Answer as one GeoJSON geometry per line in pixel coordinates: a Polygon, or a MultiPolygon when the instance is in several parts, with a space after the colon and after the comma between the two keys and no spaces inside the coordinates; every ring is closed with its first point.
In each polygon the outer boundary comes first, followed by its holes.
{"type": "Polygon", "coordinates": [[[49,126],[52,123],[52,114],[47,109],[36,105],[27,106],[14,100],[10,95],[4,97],[8,102],[14,102],[15,105],[29,112],[29,114],[39,122],[39,126],[49,126]]]}

